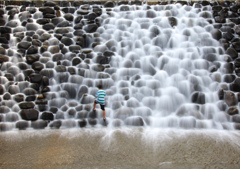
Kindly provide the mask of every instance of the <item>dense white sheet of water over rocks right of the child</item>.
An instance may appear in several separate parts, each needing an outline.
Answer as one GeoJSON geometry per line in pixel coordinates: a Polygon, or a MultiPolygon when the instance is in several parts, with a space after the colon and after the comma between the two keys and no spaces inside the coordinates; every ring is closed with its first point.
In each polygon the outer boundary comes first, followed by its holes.
{"type": "Polygon", "coordinates": [[[223,129],[227,123],[231,128],[217,107],[221,83],[214,79],[221,75],[224,50],[210,34],[213,26],[201,17],[211,16],[210,8],[201,11],[180,4],[147,8],[129,6],[121,11],[119,6],[110,16],[102,15],[97,32],[103,46],[115,53],[110,62],[116,69],[114,84],[106,88],[109,118],[140,116],[151,127],[223,129]],[[171,17],[176,19],[174,26],[171,17]],[[208,61],[208,54],[217,57],[208,61]],[[211,73],[217,63],[218,71],[211,73]],[[205,104],[192,103],[195,92],[205,95],[205,104]]]}

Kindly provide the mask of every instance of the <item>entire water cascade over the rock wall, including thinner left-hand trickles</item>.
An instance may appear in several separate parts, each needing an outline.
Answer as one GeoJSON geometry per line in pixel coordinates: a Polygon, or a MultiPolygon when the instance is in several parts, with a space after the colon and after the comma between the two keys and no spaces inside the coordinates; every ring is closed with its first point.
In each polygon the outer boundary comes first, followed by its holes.
{"type": "Polygon", "coordinates": [[[14,15],[6,24],[13,30],[6,52],[11,59],[1,65],[1,90],[14,92],[9,99],[1,95],[2,130],[101,127],[101,110],[97,118],[92,112],[99,83],[107,92],[109,128],[234,129],[219,99],[226,54],[210,33],[215,30],[210,5],[97,7],[69,8],[50,23],[43,19],[44,10],[28,7],[30,13],[14,15]],[[82,25],[76,23],[80,13],[97,9],[102,10],[95,17],[98,28],[84,20],[90,14],[79,19],[82,25]],[[66,21],[68,12],[73,18],[66,21]],[[26,20],[24,27],[19,21],[26,20]],[[35,41],[30,43],[30,37],[35,41]],[[19,50],[20,41],[26,53],[19,50]],[[9,74],[15,82],[6,78],[9,74]],[[16,104],[19,93],[25,99],[16,104]]]}

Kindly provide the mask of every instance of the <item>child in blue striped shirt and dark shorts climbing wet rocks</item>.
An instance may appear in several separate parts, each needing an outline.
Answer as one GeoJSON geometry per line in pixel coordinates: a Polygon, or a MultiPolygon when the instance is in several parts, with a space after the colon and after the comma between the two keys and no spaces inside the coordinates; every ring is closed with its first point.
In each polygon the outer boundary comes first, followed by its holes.
{"type": "Polygon", "coordinates": [[[102,85],[98,86],[98,91],[96,93],[96,100],[93,103],[93,111],[96,110],[96,104],[100,104],[101,109],[103,111],[103,120],[106,120],[105,117],[105,96],[106,96],[106,92],[102,89],[102,85]]]}

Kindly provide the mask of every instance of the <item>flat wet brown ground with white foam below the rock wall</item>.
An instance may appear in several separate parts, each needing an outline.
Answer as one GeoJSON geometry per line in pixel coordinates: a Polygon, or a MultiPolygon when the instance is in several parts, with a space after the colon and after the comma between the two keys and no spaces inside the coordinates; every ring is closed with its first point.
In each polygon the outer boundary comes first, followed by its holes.
{"type": "Polygon", "coordinates": [[[240,168],[240,132],[142,128],[0,133],[0,168],[240,168]]]}

